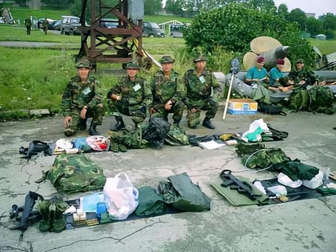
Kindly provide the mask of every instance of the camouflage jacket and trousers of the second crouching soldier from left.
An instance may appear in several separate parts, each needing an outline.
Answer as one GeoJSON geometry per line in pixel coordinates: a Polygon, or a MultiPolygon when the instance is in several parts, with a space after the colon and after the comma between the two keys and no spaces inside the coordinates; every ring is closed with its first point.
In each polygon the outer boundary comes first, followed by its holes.
{"type": "Polygon", "coordinates": [[[146,79],[135,77],[131,81],[128,76],[122,77],[116,86],[107,93],[108,107],[114,116],[131,116],[135,124],[146,119],[147,108],[152,103],[152,93],[146,79]],[[121,100],[112,100],[111,95],[121,96],[121,100]]]}

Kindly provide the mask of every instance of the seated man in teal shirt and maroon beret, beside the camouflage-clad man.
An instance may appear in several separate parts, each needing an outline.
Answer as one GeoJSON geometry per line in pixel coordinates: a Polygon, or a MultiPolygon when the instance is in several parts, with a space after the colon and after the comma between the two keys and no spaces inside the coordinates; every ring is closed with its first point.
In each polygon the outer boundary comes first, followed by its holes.
{"type": "Polygon", "coordinates": [[[269,72],[269,90],[276,92],[277,90],[286,92],[293,89],[294,82],[284,76],[283,68],[285,61],[282,59],[276,60],[276,67],[273,67],[269,72]],[[287,86],[287,87],[284,87],[287,86]]]}

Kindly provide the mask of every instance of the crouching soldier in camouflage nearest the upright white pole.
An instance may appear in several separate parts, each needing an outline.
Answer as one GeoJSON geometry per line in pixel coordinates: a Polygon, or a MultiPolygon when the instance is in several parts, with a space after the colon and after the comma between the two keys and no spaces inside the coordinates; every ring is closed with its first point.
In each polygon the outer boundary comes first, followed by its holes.
{"type": "Polygon", "coordinates": [[[204,54],[197,55],[193,62],[195,68],[188,70],[183,78],[187,91],[185,104],[188,108],[188,126],[196,128],[200,124],[201,110],[206,110],[202,125],[214,129],[210,119],[216,116],[221,88],[213,73],[206,68],[207,59],[204,54]]]}

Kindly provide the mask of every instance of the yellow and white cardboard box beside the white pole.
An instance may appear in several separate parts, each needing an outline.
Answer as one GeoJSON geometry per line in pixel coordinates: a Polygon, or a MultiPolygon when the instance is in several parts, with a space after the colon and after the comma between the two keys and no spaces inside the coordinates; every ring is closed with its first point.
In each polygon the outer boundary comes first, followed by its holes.
{"type": "Polygon", "coordinates": [[[228,112],[232,115],[255,115],[257,108],[258,102],[252,99],[231,99],[228,112]]]}

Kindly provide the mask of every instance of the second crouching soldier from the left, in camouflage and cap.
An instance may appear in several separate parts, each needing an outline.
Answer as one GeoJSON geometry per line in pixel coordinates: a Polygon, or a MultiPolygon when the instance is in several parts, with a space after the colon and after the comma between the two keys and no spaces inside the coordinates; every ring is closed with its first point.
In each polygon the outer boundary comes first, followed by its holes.
{"type": "Polygon", "coordinates": [[[146,119],[147,108],[152,103],[152,93],[146,79],[137,76],[139,65],[129,62],[126,68],[127,76],[120,78],[107,93],[108,107],[117,120],[117,124],[111,127],[112,131],[125,128],[121,115],[131,116],[137,127],[146,119]]]}

